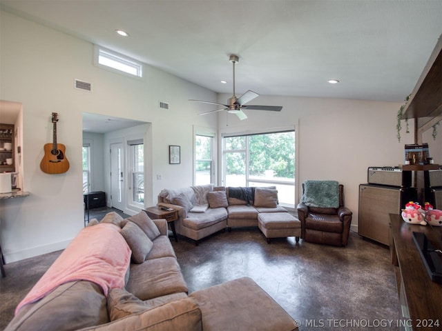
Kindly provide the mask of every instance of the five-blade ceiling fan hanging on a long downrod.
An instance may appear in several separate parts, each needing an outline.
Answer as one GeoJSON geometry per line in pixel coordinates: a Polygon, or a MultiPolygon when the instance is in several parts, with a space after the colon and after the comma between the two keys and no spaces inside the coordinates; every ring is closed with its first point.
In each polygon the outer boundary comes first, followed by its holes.
{"type": "Polygon", "coordinates": [[[237,98],[235,95],[235,64],[238,63],[239,58],[235,54],[231,54],[229,61],[231,61],[231,63],[233,64],[233,96],[229,99],[229,104],[224,105],[224,103],[190,99],[189,101],[210,103],[212,105],[218,105],[218,106],[224,107],[221,109],[212,110],[211,112],[202,112],[200,115],[211,114],[213,112],[220,112],[222,110],[227,110],[227,112],[230,112],[231,114],[236,114],[236,116],[238,116],[238,118],[242,121],[243,119],[247,119],[247,115],[244,114],[244,112],[242,111],[243,109],[270,110],[273,112],[280,112],[282,110],[281,106],[251,106],[251,105],[246,106],[245,103],[255,99],[256,97],[259,97],[259,95],[260,95],[256,92],[251,91],[251,90],[248,90],[247,92],[242,94],[241,97],[237,98]]]}

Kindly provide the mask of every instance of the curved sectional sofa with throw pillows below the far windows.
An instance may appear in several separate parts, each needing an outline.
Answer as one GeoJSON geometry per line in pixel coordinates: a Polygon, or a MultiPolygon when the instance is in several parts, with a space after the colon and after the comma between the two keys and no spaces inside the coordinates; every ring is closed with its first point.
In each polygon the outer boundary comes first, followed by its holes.
{"type": "Polygon", "coordinates": [[[278,203],[276,187],[225,188],[196,185],[162,190],[158,206],[178,210],[175,221],[178,234],[198,241],[226,228],[258,227],[258,214],[287,212],[278,203]],[[234,192],[233,192],[234,191],[234,192]]]}

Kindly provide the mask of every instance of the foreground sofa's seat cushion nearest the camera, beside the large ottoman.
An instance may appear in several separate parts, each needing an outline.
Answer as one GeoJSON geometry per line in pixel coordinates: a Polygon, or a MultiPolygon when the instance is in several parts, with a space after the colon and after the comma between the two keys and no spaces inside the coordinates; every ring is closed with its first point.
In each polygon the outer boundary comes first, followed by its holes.
{"type": "Polygon", "coordinates": [[[187,292],[188,288],[177,260],[162,257],[132,264],[126,290],[138,299],[148,300],[166,294],[187,292]]]}

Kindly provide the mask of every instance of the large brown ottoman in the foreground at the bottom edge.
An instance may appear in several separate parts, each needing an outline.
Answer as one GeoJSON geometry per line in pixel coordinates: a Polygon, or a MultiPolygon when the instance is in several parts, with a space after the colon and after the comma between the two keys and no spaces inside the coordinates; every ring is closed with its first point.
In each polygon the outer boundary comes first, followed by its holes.
{"type": "Polygon", "coordinates": [[[298,330],[296,321],[249,277],[189,295],[198,303],[204,331],[298,330]]]}

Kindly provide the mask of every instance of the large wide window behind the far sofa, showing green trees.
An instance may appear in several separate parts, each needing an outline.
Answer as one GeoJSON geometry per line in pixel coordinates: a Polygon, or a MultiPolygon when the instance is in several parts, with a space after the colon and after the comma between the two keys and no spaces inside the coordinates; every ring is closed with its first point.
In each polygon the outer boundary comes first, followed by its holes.
{"type": "Polygon", "coordinates": [[[295,205],[295,132],[249,134],[223,139],[224,185],[276,186],[279,202],[295,205]]]}

